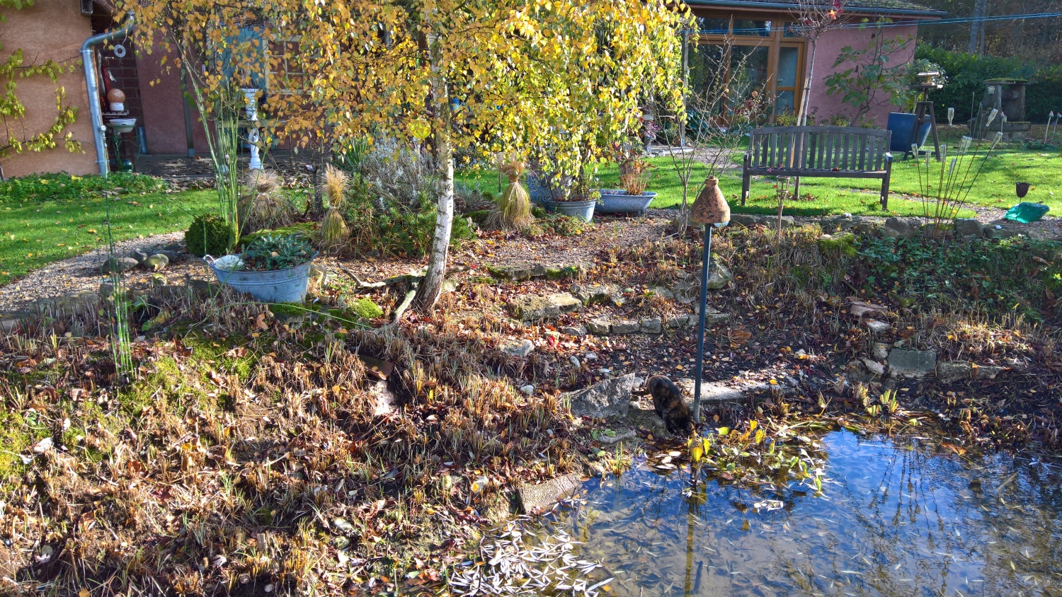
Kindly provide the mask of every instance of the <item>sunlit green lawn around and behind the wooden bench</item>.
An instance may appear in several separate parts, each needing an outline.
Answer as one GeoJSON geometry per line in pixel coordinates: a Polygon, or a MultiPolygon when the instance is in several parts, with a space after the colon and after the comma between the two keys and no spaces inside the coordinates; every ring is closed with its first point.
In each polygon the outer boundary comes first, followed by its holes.
{"type": "MultiPolygon", "coordinates": [[[[739,160],[740,157],[738,156],[739,160]]],[[[653,201],[654,208],[666,208],[682,201],[682,183],[672,166],[671,158],[652,158],[653,165],[649,190],[657,193],[653,201]]],[[[938,173],[940,164],[932,162],[930,170],[938,173]]],[[[923,175],[925,168],[923,164],[923,175]]],[[[697,185],[703,179],[703,172],[695,173],[690,182],[691,193],[696,194],[697,185]]],[[[618,183],[618,172],[615,164],[607,164],[598,172],[602,187],[615,187],[618,183]]],[[[497,174],[492,170],[466,171],[458,178],[467,183],[480,182],[484,189],[497,189],[497,174]]],[[[1018,201],[1014,195],[1014,182],[1028,181],[1032,190],[1023,200],[1047,204],[1052,214],[1062,213],[1062,154],[1037,153],[1030,151],[1009,150],[996,154],[986,163],[984,170],[970,192],[969,203],[1009,208],[1018,201]],[[1054,192],[1054,195],[1050,194],[1054,192]]],[[[801,194],[810,193],[813,199],[792,200],[786,205],[786,213],[790,215],[823,215],[850,212],[856,215],[922,215],[921,201],[904,199],[903,194],[919,194],[919,174],[914,160],[897,159],[892,168],[891,195],[889,211],[883,212],[878,204],[880,180],[859,178],[802,178],[801,194]]],[[[726,194],[731,209],[742,213],[774,213],[777,211],[777,199],[773,189],[773,180],[768,178],[754,179],[749,193],[749,201],[741,206],[740,164],[730,170],[720,179],[720,186],[726,194]]],[[[690,201],[693,199],[691,196],[690,201]]],[[[962,215],[971,215],[964,211],[962,215]]]]}

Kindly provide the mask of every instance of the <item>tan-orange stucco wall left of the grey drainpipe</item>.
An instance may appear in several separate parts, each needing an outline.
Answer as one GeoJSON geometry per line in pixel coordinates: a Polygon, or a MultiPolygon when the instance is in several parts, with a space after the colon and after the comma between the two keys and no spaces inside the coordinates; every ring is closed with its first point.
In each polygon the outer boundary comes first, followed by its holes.
{"type": "MultiPolygon", "coordinates": [[[[78,107],[76,121],[67,127],[73,139],[82,144],[82,152],[71,154],[62,141],[54,150],[24,152],[3,160],[5,176],[24,176],[37,172],[69,172],[83,175],[98,172],[96,145],[88,111],[88,92],[81,66],[81,43],[92,34],[89,18],[81,14],[78,2],[71,0],[36,0],[21,11],[4,8],[7,21],[0,24],[3,35],[0,42],[0,60],[5,60],[21,48],[28,60],[53,59],[74,66],[52,83],[47,76],[16,78],[16,93],[25,105],[25,118],[8,121],[18,128],[23,125],[27,136],[48,129],[55,122],[55,89],[66,89],[65,103],[78,107]]],[[[21,136],[21,135],[19,135],[21,136]]]]}

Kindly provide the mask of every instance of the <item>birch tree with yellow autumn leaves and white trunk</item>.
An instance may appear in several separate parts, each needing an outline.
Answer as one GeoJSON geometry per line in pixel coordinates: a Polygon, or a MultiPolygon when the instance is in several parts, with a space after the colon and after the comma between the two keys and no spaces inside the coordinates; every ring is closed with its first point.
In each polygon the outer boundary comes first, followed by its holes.
{"type": "Polygon", "coordinates": [[[440,188],[416,302],[442,291],[453,218],[453,153],[549,146],[553,172],[603,157],[655,91],[678,99],[680,18],[662,0],[377,0],[271,4],[272,35],[295,40],[297,71],[273,57],[281,134],[325,122],[337,144],[427,144],[440,188]]]}

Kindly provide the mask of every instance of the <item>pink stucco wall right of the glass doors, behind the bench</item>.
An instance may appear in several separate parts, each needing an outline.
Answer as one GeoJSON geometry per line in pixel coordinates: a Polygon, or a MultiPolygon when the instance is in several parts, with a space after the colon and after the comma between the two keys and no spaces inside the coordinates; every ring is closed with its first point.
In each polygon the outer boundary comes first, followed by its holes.
{"type": "MultiPolygon", "coordinates": [[[[815,56],[815,69],[811,77],[811,93],[808,100],[808,110],[818,108],[816,117],[820,122],[833,115],[841,113],[851,117],[856,112],[856,108],[854,106],[841,102],[841,95],[829,95],[826,93],[825,80],[829,76],[830,72],[833,72],[834,60],[836,60],[838,54],[840,54],[841,48],[845,46],[852,46],[855,49],[866,48],[871,41],[871,35],[874,34],[876,34],[876,32],[873,28],[862,31],[858,29],[845,29],[828,31],[819,38],[815,56]]],[[[914,57],[913,36],[917,34],[918,25],[914,23],[890,27],[885,30],[885,35],[890,37],[911,36],[910,43],[908,43],[903,51],[889,57],[890,64],[907,64],[914,57]]],[[[806,65],[805,68],[810,65],[810,51],[808,51],[808,65],[806,65]]],[[[874,121],[880,128],[885,128],[886,121],[889,119],[889,112],[906,111],[890,104],[889,98],[886,94],[881,94],[879,101],[876,103],[885,105],[874,106],[866,118],[874,121]]]]}

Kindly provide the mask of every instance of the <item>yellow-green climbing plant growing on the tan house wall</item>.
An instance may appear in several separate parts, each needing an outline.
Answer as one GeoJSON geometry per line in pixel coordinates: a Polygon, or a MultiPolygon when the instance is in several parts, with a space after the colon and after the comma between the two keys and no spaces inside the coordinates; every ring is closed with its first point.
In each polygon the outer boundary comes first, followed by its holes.
{"type": "MultiPolygon", "coordinates": [[[[32,5],[33,0],[0,0],[0,23],[7,21],[4,11],[21,11],[32,5]]],[[[4,51],[2,32],[3,28],[0,27],[0,52],[4,51]]],[[[3,162],[13,155],[52,150],[59,141],[68,152],[81,151],[81,142],[74,140],[73,134],[67,130],[78,118],[78,107],[66,103],[66,89],[62,85],[55,88],[55,119],[44,130],[27,127],[25,104],[18,96],[20,80],[44,76],[57,84],[61,74],[72,72],[75,68],[76,64],[67,64],[67,60],[28,60],[22,48],[15,49],[0,62],[0,84],[3,85],[0,93],[0,126],[3,127],[0,131],[0,180],[4,178],[3,162]]]]}

